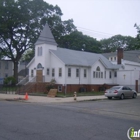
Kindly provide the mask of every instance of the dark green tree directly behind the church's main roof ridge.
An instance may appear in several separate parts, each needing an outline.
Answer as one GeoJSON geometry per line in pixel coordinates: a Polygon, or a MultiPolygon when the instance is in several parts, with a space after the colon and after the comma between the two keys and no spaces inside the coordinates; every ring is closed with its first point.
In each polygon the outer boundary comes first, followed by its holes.
{"type": "Polygon", "coordinates": [[[101,52],[101,44],[99,41],[90,36],[83,35],[83,33],[79,31],[74,31],[68,35],[62,36],[58,42],[58,46],[87,52],[101,52]]]}

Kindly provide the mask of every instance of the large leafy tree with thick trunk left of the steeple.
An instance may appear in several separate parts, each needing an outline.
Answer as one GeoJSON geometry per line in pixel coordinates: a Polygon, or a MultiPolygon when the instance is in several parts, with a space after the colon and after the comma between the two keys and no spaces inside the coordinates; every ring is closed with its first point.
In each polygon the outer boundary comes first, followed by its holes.
{"type": "Polygon", "coordinates": [[[0,9],[0,51],[13,61],[16,82],[18,62],[24,52],[33,49],[46,21],[56,40],[76,29],[73,20],[61,21],[57,5],[43,0],[1,0],[0,9]]]}

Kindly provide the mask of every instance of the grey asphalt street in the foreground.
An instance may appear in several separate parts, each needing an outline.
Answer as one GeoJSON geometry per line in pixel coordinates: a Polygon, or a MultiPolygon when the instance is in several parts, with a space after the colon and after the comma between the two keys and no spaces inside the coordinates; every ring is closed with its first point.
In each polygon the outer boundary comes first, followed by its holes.
{"type": "Polygon", "coordinates": [[[0,101],[0,140],[128,140],[140,97],[75,103],[0,101]]]}

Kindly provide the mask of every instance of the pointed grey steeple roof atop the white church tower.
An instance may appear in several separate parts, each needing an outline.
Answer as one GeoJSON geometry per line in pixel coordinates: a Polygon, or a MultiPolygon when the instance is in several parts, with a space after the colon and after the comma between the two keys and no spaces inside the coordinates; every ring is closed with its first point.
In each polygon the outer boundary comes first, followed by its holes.
{"type": "Polygon", "coordinates": [[[57,45],[52,32],[49,28],[48,23],[46,23],[46,25],[44,26],[44,29],[41,31],[40,36],[37,40],[37,42],[35,43],[35,45],[39,45],[39,44],[50,44],[50,45],[57,45]]]}

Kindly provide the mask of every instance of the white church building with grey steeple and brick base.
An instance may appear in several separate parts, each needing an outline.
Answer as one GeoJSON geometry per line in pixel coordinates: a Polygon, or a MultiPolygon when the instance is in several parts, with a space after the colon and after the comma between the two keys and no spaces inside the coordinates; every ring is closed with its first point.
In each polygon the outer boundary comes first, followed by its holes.
{"type": "Polygon", "coordinates": [[[118,49],[112,61],[106,54],[59,48],[48,24],[35,43],[35,56],[27,68],[26,84],[55,79],[58,92],[99,91],[113,85],[140,90],[140,63],[124,60],[123,49],[118,49]]]}

